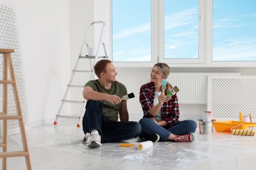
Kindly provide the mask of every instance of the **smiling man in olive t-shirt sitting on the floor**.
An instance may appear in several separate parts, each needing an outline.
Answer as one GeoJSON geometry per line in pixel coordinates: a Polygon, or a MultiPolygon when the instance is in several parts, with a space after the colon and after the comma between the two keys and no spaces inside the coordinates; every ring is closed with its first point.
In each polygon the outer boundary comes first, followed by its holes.
{"type": "Polygon", "coordinates": [[[83,89],[83,97],[87,99],[83,116],[85,144],[93,148],[101,143],[138,137],[141,126],[139,122],[129,122],[127,101],[121,99],[127,95],[127,89],[116,81],[117,72],[112,61],[101,59],[94,70],[98,79],[90,80],[83,89]]]}

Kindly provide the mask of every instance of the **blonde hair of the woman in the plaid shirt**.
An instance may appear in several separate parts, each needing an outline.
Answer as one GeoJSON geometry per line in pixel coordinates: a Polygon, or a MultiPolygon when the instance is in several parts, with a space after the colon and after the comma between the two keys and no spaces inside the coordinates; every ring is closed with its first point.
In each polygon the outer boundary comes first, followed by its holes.
{"type": "MultiPolygon", "coordinates": [[[[167,79],[170,74],[170,67],[166,63],[156,63],[154,67],[155,66],[158,67],[158,70],[160,71],[161,76],[163,76],[163,79],[167,79]]],[[[165,95],[167,95],[167,93],[169,93],[169,90],[173,88],[170,82],[167,82],[166,85],[167,86],[166,86],[165,95]]],[[[169,101],[170,99],[171,99],[171,95],[167,97],[165,102],[169,101]]]]}

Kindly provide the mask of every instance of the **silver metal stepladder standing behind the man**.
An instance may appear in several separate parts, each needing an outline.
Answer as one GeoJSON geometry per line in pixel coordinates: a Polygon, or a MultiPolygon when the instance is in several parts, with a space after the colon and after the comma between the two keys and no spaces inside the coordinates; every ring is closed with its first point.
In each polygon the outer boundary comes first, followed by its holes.
{"type": "Polygon", "coordinates": [[[102,22],[102,21],[95,21],[95,22],[92,22],[89,25],[89,27],[87,29],[87,33],[85,34],[85,38],[83,40],[83,44],[81,46],[79,57],[77,58],[74,69],[72,70],[72,75],[70,77],[70,81],[67,84],[66,92],[65,92],[64,97],[62,99],[60,109],[58,110],[58,114],[56,114],[54,125],[57,125],[58,118],[77,118],[78,119],[77,127],[80,127],[80,123],[81,123],[81,120],[83,118],[83,114],[85,113],[86,101],[85,100],[69,100],[69,99],[67,99],[67,97],[68,97],[68,93],[69,93],[71,88],[81,88],[81,93],[83,92],[84,84],[83,85],[73,84],[75,73],[78,73],[78,72],[80,72],[80,73],[83,73],[83,72],[88,73],[89,72],[90,73],[91,72],[90,80],[94,80],[95,79],[95,75],[94,75],[95,73],[94,73],[93,67],[94,67],[95,63],[98,61],[98,59],[108,59],[108,55],[107,55],[107,52],[106,52],[106,46],[105,46],[104,42],[102,41],[102,35],[103,35],[104,28],[105,28],[105,23],[102,22]],[[91,29],[92,29],[93,25],[95,25],[95,24],[101,25],[102,27],[101,27],[101,31],[100,31],[100,37],[99,37],[99,40],[98,40],[98,45],[97,45],[97,48],[96,48],[96,54],[95,54],[95,56],[89,56],[89,54],[88,54],[89,43],[87,42],[87,39],[88,39],[89,33],[91,33],[91,29]],[[100,52],[100,45],[101,44],[104,48],[105,56],[98,56],[98,54],[100,52]],[[83,53],[85,51],[87,51],[87,54],[83,55],[83,53]],[[89,64],[90,64],[90,69],[89,70],[79,70],[79,69],[77,69],[77,65],[79,64],[80,59],[89,59],[89,64]],[[70,115],[62,114],[62,109],[63,109],[65,103],[80,103],[81,105],[83,105],[82,108],[81,108],[80,115],[79,116],[70,116],[70,115]]]}

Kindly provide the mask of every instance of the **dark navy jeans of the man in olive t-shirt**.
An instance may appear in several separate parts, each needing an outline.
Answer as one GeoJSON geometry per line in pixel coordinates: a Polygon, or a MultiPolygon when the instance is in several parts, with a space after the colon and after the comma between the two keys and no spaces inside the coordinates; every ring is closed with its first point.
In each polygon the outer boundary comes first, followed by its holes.
{"type": "Polygon", "coordinates": [[[138,137],[141,131],[139,122],[116,122],[102,118],[102,106],[99,101],[89,100],[83,116],[83,132],[90,133],[97,129],[101,135],[101,143],[121,141],[138,137]]]}

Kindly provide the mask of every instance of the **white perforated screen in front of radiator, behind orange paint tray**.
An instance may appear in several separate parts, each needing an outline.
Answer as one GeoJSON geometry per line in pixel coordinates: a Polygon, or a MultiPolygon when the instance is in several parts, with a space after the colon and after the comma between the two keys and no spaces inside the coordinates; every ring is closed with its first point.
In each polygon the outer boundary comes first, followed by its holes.
{"type": "Polygon", "coordinates": [[[208,104],[214,118],[239,120],[256,116],[256,76],[209,76],[208,104]]]}

